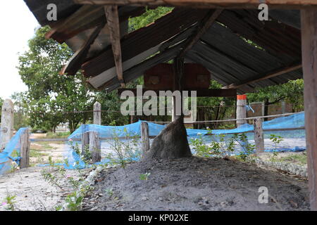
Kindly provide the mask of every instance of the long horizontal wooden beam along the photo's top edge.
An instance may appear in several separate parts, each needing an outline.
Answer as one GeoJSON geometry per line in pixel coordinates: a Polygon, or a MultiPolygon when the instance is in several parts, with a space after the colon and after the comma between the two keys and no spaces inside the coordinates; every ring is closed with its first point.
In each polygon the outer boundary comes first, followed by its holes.
{"type": "Polygon", "coordinates": [[[74,0],[76,4],[129,5],[129,6],[191,6],[201,8],[258,8],[266,3],[270,8],[309,8],[315,0],[74,0]]]}

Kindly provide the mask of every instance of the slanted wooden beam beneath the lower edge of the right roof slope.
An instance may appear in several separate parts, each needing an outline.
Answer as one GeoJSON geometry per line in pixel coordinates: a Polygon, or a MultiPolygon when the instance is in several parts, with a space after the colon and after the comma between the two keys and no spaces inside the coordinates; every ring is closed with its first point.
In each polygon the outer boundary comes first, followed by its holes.
{"type": "Polygon", "coordinates": [[[260,80],[263,80],[263,79],[269,79],[269,78],[272,78],[272,77],[277,77],[279,75],[283,75],[283,74],[285,74],[287,72],[292,72],[292,71],[298,70],[300,68],[302,68],[302,64],[292,65],[292,66],[287,67],[287,68],[282,68],[280,70],[275,70],[273,72],[266,73],[265,75],[259,75],[257,77],[252,77],[251,79],[245,79],[242,82],[230,84],[228,86],[223,86],[223,89],[238,89],[241,86],[244,86],[246,84],[259,82],[260,80]]]}

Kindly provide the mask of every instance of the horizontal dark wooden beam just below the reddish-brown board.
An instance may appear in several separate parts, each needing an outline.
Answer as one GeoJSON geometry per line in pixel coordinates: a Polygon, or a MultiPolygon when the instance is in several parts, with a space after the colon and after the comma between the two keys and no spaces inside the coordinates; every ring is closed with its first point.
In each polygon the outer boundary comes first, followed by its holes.
{"type": "MultiPolygon", "coordinates": [[[[132,91],[137,96],[137,89],[118,89],[118,94],[122,94],[123,91],[132,91]]],[[[172,91],[172,89],[166,90],[153,90],[153,89],[142,89],[142,94],[145,91],[155,91],[159,95],[159,91],[172,91]]],[[[184,89],[184,91],[197,91],[197,97],[235,97],[237,96],[237,90],[235,89],[184,89]]]]}

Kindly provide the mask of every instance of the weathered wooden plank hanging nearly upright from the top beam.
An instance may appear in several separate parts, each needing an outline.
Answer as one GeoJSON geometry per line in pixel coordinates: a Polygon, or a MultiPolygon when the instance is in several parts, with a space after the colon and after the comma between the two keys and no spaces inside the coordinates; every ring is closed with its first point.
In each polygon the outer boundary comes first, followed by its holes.
{"type": "Polygon", "coordinates": [[[110,32],[110,41],[112,46],[113,58],[115,60],[118,80],[122,87],[125,86],[123,79],[121,44],[120,44],[120,23],[118,15],[118,6],[105,6],[107,24],[110,32]]]}

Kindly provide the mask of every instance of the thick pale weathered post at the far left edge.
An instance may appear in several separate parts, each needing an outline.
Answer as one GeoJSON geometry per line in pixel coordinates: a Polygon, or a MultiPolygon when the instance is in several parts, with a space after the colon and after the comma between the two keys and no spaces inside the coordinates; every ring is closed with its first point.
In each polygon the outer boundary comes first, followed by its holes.
{"type": "Polygon", "coordinates": [[[0,152],[6,148],[6,144],[13,136],[13,103],[10,99],[6,99],[1,110],[1,139],[0,152]]]}

